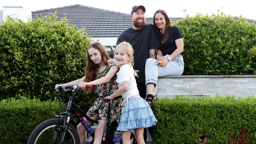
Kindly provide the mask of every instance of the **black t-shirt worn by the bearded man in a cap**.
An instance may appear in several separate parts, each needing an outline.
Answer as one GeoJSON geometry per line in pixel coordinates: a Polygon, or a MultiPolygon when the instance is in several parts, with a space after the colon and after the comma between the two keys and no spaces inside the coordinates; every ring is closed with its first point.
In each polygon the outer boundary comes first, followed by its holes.
{"type": "Polygon", "coordinates": [[[145,63],[148,58],[148,50],[159,48],[154,25],[146,24],[140,30],[128,28],[119,35],[117,45],[123,41],[129,42],[134,48],[134,70],[139,70],[139,77],[135,77],[136,83],[145,83],[145,63]]]}

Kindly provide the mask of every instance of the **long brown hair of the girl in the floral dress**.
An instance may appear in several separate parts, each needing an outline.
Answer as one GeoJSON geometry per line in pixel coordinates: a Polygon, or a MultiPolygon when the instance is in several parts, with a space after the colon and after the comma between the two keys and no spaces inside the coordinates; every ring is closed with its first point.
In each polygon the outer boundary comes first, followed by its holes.
{"type": "MultiPolygon", "coordinates": [[[[104,48],[104,46],[100,43],[100,42],[93,42],[91,43],[88,48],[87,48],[87,64],[86,64],[86,69],[85,69],[85,82],[90,82],[90,81],[94,81],[95,78],[95,72],[98,68],[98,64],[96,65],[90,58],[88,50],[90,48],[95,48],[96,50],[100,51],[101,54],[101,61],[104,61],[104,63],[106,65],[108,65],[108,60],[110,59],[109,54],[106,53],[106,50],[104,48]]],[[[91,90],[91,92],[95,92],[96,90],[96,86],[94,86],[91,90]]]]}

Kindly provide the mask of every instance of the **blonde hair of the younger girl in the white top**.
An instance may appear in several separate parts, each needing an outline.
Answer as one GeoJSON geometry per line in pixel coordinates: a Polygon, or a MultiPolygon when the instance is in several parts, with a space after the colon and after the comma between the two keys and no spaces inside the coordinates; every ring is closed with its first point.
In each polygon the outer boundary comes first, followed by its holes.
{"type": "MultiPolygon", "coordinates": [[[[134,66],[134,57],[133,57],[134,49],[132,48],[132,45],[129,44],[128,42],[121,42],[115,48],[114,54],[116,53],[118,48],[124,48],[124,52],[126,52],[126,54],[128,54],[128,56],[131,57],[130,61],[128,61],[128,64],[133,67],[134,66]]],[[[115,63],[117,63],[116,59],[114,61],[115,61],[115,63]]],[[[139,72],[139,70],[134,70],[134,76],[138,77],[137,72],[139,72]]]]}

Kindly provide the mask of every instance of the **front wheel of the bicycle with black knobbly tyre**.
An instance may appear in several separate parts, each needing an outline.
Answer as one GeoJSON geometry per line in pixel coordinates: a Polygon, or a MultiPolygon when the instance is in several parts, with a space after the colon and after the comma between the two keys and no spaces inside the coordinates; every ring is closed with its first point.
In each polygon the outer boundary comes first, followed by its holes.
{"type": "MultiPolygon", "coordinates": [[[[35,127],[27,144],[59,144],[64,133],[62,121],[60,118],[45,120],[35,127]]],[[[78,133],[72,124],[69,124],[64,144],[80,144],[78,133]]]]}

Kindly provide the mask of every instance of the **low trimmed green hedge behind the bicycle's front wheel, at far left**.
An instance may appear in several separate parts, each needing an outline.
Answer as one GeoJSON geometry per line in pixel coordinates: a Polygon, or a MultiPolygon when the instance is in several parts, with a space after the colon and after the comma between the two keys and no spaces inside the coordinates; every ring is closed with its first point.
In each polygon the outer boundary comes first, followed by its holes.
{"type": "MultiPolygon", "coordinates": [[[[30,133],[41,122],[55,118],[49,109],[49,101],[21,98],[2,100],[0,102],[0,139],[1,144],[25,144],[30,133]]],[[[61,112],[59,103],[51,103],[55,114],[61,112]]],[[[65,111],[65,110],[64,110],[65,111]]]]}

